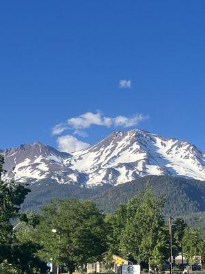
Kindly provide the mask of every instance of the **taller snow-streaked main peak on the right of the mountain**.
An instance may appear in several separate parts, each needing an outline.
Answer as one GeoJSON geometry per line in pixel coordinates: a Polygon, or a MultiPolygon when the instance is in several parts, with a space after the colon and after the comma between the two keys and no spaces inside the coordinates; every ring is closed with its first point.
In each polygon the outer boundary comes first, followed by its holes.
{"type": "Polygon", "coordinates": [[[141,130],[115,132],[66,163],[88,175],[88,186],[122,184],[146,175],[205,179],[205,158],[195,146],[141,130]]]}

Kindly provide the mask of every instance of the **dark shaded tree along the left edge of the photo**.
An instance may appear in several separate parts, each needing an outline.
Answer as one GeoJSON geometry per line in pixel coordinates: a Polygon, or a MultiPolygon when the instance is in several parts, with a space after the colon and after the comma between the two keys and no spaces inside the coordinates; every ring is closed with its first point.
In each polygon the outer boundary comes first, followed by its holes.
{"type": "Polygon", "coordinates": [[[11,223],[16,219],[29,221],[19,210],[30,190],[14,181],[4,183],[1,177],[5,172],[3,164],[3,156],[0,155],[0,273],[40,273],[44,263],[35,256],[40,247],[30,240],[20,242],[11,223]]]}

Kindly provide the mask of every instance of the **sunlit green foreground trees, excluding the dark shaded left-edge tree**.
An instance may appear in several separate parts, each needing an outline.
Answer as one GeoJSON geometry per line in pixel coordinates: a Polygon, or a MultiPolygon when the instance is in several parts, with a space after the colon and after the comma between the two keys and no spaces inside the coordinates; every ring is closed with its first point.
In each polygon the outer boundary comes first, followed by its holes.
{"type": "MultiPolygon", "coordinates": [[[[109,251],[107,269],[112,264],[111,254],[117,253],[159,272],[169,258],[164,204],[164,197],[156,197],[150,187],[106,216],[90,201],[55,200],[42,208],[42,214],[29,217],[33,222],[20,229],[18,238],[40,245],[38,257],[64,265],[70,273],[86,262],[99,260],[103,251],[109,251]]],[[[174,221],[172,236],[174,256],[183,251],[193,262],[193,256],[202,255],[205,241],[183,219],[174,221]]]]}

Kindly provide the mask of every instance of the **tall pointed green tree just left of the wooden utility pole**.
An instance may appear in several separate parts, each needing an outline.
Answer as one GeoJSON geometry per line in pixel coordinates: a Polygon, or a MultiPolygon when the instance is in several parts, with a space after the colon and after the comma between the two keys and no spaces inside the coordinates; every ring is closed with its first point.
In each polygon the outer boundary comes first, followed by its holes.
{"type": "Polygon", "coordinates": [[[164,203],[164,198],[157,198],[147,188],[127,203],[119,220],[124,222],[119,238],[124,256],[146,262],[156,270],[169,256],[169,233],[161,215],[164,203]]]}

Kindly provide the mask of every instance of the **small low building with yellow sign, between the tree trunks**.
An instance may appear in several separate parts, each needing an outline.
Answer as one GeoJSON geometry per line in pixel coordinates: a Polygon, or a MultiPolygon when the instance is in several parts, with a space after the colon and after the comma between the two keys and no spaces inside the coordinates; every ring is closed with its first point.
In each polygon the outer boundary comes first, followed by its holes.
{"type": "MultiPolygon", "coordinates": [[[[87,263],[87,274],[88,273],[106,273],[107,272],[107,263],[106,263],[106,256],[108,252],[102,253],[100,256],[100,260],[93,263],[87,263]]],[[[112,255],[112,263],[111,267],[109,268],[109,272],[118,273],[118,269],[123,264],[133,264],[128,259],[123,258],[122,256],[118,256],[113,254],[112,255]]]]}

